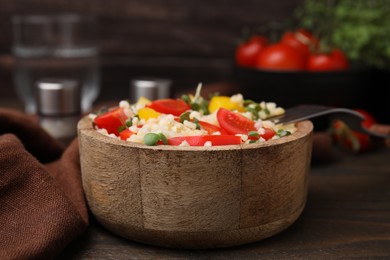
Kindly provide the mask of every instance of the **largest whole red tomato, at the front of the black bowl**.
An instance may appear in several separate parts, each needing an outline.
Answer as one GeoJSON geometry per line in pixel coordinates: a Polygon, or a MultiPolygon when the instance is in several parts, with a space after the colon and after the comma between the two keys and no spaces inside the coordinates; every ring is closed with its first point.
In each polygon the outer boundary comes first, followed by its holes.
{"type": "Polygon", "coordinates": [[[256,67],[265,70],[296,71],[306,68],[306,57],[293,47],[276,43],[269,45],[259,55],[256,67]]]}

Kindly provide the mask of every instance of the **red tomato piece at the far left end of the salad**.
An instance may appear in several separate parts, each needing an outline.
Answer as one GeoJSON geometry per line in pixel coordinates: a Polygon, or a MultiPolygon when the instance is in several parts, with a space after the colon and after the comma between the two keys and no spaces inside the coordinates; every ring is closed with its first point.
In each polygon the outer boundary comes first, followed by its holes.
{"type": "Polygon", "coordinates": [[[127,117],[123,108],[116,108],[104,114],[98,115],[94,123],[99,128],[105,128],[109,134],[119,135],[118,128],[126,124],[127,117]]]}

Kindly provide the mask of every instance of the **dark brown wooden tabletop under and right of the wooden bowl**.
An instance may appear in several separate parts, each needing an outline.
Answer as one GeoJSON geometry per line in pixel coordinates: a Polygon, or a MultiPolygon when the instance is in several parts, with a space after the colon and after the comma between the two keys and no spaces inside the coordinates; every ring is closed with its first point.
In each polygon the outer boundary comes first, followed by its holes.
{"type": "Polygon", "coordinates": [[[123,239],[91,219],[59,259],[390,259],[390,149],[312,165],[300,218],[271,238],[233,248],[167,249],[123,239]]]}

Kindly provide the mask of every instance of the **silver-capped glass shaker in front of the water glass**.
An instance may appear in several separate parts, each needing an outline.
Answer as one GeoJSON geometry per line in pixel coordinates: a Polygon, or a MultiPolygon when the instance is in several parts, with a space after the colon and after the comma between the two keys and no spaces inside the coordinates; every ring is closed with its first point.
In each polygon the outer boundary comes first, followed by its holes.
{"type": "Polygon", "coordinates": [[[80,97],[80,84],[76,80],[48,78],[36,83],[39,123],[65,145],[77,135],[80,97]]]}

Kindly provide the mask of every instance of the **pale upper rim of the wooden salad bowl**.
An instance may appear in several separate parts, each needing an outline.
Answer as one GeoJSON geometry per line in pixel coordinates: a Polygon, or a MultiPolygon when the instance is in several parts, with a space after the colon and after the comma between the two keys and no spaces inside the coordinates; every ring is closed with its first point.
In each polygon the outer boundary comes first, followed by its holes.
{"type": "Polygon", "coordinates": [[[221,146],[172,146],[172,145],[156,145],[156,146],[148,146],[145,144],[135,143],[135,142],[127,142],[120,139],[112,138],[106,135],[103,135],[94,129],[92,124],[92,119],[89,116],[84,116],[81,118],[77,124],[77,132],[78,137],[81,135],[86,135],[96,141],[119,145],[129,148],[139,148],[144,150],[157,150],[157,151],[229,151],[229,150],[250,150],[250,149],[258,149],[265,148],[270,146],[278,146],[285,143],[293,142],[295,140],[304,138],[307,135],[312,134],[314,126],[310,120],[305,120],[302,122],[296,123],[297,130],[288,136],[284,136],[279,139],[272,139],[266,142],[261,143],[253,143],[253,144],[240,144],[240,145],[221,145],[221,146]]]}

